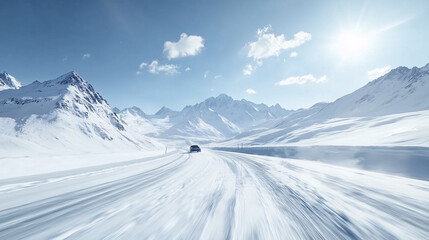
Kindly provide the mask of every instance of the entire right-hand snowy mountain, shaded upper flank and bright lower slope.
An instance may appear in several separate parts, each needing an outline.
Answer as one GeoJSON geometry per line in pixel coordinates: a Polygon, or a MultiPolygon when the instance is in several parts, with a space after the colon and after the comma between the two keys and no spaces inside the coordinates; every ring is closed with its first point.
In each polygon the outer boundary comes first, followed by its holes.
{"type": "Polygon", "coordinates": [[[266,122],[228,144],[429,146],[428,110],[429,64],[398,67],[332,103],[266,122]]]}

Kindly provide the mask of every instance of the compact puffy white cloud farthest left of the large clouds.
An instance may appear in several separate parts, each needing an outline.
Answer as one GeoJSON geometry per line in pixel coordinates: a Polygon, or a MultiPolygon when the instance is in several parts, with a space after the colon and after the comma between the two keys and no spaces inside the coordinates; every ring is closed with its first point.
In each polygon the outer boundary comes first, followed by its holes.
{"type": "Polygon", "coordinates": [[[167,58],[179,58],[186,56],[195,56],[204,48],[204,39],[201,36],[190,35],[186,33],[180,34],[180,39],[177,42],[166,41],[164,43],[164,52],[167,58]]]}

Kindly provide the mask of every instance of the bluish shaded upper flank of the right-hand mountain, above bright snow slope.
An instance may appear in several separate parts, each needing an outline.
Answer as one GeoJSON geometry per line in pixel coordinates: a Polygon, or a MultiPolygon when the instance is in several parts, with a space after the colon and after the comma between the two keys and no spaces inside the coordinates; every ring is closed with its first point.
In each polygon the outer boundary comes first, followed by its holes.
{"type": "Polygon", "coordinates": [[[429,109],[429,64],[398,67],[326,105],[317,118],[382,116],[429,109]]]}

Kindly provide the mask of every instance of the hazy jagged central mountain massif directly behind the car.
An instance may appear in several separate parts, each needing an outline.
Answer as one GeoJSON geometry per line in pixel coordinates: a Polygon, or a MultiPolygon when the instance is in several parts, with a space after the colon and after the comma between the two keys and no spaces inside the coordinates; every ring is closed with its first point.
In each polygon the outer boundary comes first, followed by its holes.
{"type": "Polygon", "coordinates": [[[164,136],[213,137],[222,139],[239,134],[267,120],[287,115],[279,105],[268,107],[221,94],[193,106],[186,106],[172,117],[175,122],[164,136]]]}

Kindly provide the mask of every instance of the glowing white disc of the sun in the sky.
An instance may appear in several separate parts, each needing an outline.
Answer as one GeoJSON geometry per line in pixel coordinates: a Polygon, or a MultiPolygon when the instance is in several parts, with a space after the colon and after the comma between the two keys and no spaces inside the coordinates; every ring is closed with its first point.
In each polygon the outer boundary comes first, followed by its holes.
{"type": "Polygon", "coordinates": [[[369,38],[359,32],[350,31],[340,35],[337,41],[338,53],[344,58],[363,55],[369,45],[369,38]]]}

